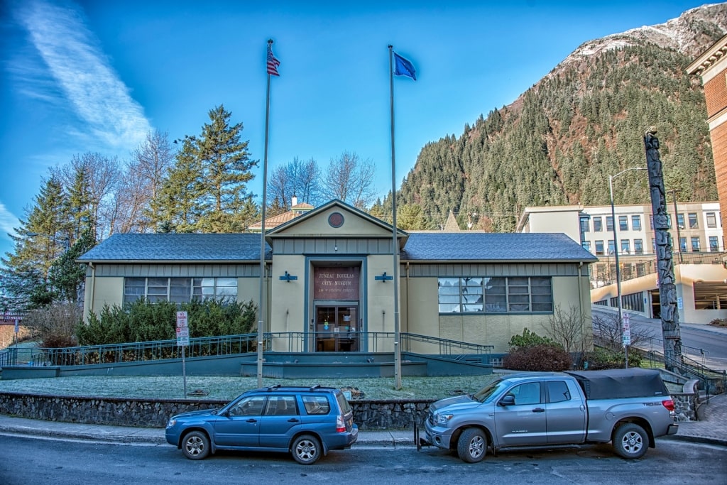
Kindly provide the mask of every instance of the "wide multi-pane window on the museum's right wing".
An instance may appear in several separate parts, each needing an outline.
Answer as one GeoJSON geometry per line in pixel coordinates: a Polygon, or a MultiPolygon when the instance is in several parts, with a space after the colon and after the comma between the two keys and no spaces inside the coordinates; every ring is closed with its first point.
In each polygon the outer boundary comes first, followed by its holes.
{"type": "Polygon", "coordinates": [[[438,279],[439,313],[553,313],[553,281],[545,276],[438,279]]]}

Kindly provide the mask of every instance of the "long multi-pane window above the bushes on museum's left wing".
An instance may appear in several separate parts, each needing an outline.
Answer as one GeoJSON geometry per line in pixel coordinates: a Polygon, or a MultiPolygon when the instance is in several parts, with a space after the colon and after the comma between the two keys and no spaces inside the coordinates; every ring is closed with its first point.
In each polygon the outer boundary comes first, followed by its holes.
{"type": "Polygon", "coordinates": [[[124,303],[146,298],[150,302],[184,303],[191,300],[236,300],[237,278],[124,278],[124,303]]]}

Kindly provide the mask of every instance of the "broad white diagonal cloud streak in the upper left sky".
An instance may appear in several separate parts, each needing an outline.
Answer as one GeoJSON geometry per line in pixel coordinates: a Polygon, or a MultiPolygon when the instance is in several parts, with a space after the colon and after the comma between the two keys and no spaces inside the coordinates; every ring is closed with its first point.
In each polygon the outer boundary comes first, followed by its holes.
{"type": "Polygon", "coordinates": [[[121,148],[144,140],[151,128],[143,108],[111,67],[78,6],[31,0],[18,17],[60,92],[102,143],[121,148]]]}

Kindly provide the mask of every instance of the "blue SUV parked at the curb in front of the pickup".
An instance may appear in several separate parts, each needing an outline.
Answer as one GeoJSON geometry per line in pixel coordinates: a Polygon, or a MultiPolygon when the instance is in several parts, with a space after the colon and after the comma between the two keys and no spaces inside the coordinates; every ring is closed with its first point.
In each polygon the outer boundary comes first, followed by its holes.
{"type": "Polygon", "coordinates": [[[274,385],[249,390],[220,409],[172,416],[165,436],[190,460],[230,449],[289,452],[312,465],[329,450],[350,448],[358,427],[340,389],[274,385]]]}

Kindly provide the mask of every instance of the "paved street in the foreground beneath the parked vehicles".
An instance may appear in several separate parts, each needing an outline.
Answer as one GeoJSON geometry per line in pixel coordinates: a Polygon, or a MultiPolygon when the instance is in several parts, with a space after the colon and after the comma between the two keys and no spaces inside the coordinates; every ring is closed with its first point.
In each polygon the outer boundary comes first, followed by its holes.
{"type": "Polygon", "coordinates": [[[10,451],[0,481],[20,484],[723,484],[723,446],[657,441],[641,460],[616,457],[608,445],[488,455],[467,464],[439,449],[414,446],[331,452],[316,465],[286,454],[224,452],[191,461],[174,446],[130,446],[2,436],[10,451]]]}

